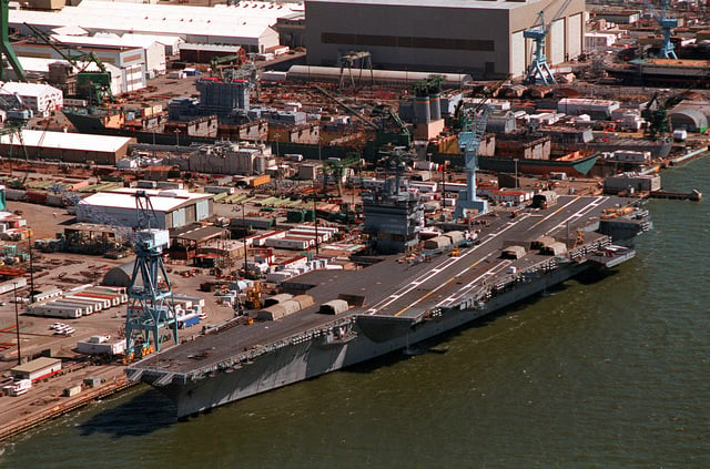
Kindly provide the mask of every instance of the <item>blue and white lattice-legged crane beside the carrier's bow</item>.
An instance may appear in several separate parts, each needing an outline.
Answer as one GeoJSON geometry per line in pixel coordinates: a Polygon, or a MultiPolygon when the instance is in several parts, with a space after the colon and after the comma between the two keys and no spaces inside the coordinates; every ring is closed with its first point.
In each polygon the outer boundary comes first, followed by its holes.
{"type": "Polygon", "coordinates": [[[162,258],[170,236],[168,230],[151,228],[151,220],[156,218],[145,191],[135,193],[135,264],[129,285],[129,307],[125,314],[125,353],[129,358],[146,355],[153,349],[160,351],[166,329],[172,332],[173,343],[178,344],[172,286],[162,258]],[[162,282],[159,279],[160,276],[162,282]]]}

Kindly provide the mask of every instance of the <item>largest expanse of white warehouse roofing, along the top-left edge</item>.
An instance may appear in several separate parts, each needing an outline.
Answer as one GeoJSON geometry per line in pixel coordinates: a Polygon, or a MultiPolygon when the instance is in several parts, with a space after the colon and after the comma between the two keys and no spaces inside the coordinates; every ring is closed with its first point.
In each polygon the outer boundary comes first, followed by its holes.
{"type": "Polygon", "coordinates": [[[59,12],[10,10],[10,24],[18,28],[23,23],[50,28],[79,26],[89,30],[100,24],[102,31],[258,38],[280,17],[297,11],[303,11],[302,4],[262,1],[243,1],[229,7],[186,7],[84,0],[59,12]],[[98,18],[100,22],[97,22],[98,18]]]}

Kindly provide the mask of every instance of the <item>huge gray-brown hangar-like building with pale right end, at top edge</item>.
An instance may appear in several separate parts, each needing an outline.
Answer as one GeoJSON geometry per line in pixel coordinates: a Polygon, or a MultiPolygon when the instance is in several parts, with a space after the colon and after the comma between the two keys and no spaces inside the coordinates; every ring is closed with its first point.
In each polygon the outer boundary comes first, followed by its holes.
{"type": "MultiPolygon", "coordinates": [[[[369,51],[374,67],[521,77],[532,41],[523,32],[549,22],[564,0],[305,0],[312,65],[334,65],[348,51],[369,51]]],[[[585,0],[571,0],[547,37],[548,63],[584,48],[585,0]]]]}

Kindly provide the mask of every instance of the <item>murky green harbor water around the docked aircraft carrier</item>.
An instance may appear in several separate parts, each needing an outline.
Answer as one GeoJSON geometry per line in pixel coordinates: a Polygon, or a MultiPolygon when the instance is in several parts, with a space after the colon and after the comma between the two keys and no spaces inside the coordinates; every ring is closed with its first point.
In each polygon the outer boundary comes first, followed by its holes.
{"type": "MultiPolygon", "coordinates": [[[[710,159],[662,174],[710,194],[710,159]]],[[[175,421],[133,388],[2,446],[2,468],[708,468],[710,202],[568,282],[396,355],[175,421]]]]}

